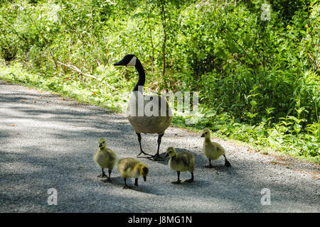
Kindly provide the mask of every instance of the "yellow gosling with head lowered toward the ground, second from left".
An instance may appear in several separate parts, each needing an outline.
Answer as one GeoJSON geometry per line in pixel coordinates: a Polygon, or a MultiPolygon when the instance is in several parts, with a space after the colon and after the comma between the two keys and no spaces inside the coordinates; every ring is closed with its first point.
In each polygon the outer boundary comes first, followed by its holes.
{"type": "Polygon", "coordinates": [[[146,175],[149,173],[149,167],[144,163],[132,157],[125,157],[118,161],[118,170],[121,177],[124,179],[124,189],[130,189],[127,185],[127,178],[134,177],[134,185],[138,186],[138,177],[142,176],[146,181],[146,175]]]}

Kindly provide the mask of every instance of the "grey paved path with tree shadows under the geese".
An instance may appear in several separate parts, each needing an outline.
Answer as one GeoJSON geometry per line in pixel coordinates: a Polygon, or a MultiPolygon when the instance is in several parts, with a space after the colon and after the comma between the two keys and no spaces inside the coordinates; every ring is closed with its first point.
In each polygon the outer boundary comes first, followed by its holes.
{"type": "MultiPolygon", "coordinates": [[[[169,146],[193,153],[196,182],[171,184],[176,172],[167,161],[142,159],[150,168],[146,182],[122,189],[117,167],[112,184],[96,178],[101,170],[92,154],[100,137],[118,158],[139,153],[123,114],[0,81],[0,212],[320,212],[319,165],[213,138],[233,167],[220,159],[206,169],[203,138],[172,127],[161,153],[169,146]],[[57,206],[47,203],[50,188],[57,189],[57,206]],[[271,193],[267,206],[260,202],[263,188],[271,193]]],[[[156,138],[142,135],[147,153],[156,152],[156,138]]]]}

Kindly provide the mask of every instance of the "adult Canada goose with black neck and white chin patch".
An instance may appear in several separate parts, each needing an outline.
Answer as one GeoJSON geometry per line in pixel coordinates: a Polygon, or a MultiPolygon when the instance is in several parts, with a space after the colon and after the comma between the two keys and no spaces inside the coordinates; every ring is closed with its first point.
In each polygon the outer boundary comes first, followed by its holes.
{"type": "MultiPolygon", "coordinates": [[[[136,56],[125,55],[122,60],[114,63],[114,65],[134,66],[139,72],[138,82],[134,86],[129,99],[127,118],[138,136],[140,145],[139,155],[148,155],[149,157],[147,158],[151,160],[162,160],[159,155],[161,138],[172,121],[172,113],[169,104],[163,96],[147,96],[143,94],[146,77],[144,74],[144,67],[142,67],[141,62],[136,56]],[[141,133],[158,134],[158,149],[156,150],[155,155],[149,155],[142,150],[141,133]]],[[[139,155],[137,155],[137,157],[139,157],[139,155]]]]}

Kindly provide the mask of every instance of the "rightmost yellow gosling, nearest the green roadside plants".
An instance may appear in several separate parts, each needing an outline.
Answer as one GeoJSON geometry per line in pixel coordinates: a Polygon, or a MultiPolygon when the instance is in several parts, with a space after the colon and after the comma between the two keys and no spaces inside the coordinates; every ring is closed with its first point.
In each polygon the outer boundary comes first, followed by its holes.
{"type": "MultiPolygon", "coordinates": [[[[205,140],[203,141],[202,151],[209,160],[209,165],[207,165],[206,167],[212,168],[213,165],[211,165],[211,160],[218,160],[221,155],[225,157],[225,149],[219,143],[211,142],[210,130],[208,128],[203,129],[201,137],[205,138],[205,140]]],[[[227,160],[227,157],[225,157],[225,166],[231,167],[231,164],[227,160]]]]}

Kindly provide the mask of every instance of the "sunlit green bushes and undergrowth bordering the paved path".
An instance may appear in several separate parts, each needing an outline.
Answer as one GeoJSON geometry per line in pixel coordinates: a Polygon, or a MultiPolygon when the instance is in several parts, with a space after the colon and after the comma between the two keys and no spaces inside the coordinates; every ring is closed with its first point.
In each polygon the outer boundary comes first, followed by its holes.
{"type": "Polygon", "coordinates": [[[146,90],[198,91],[198,123],[320,162],[320,1],[76,0],[0,3],[0,78],[124,109],[146,90]],[[262,4],[270,20],[262,20],[262,4]]]}

